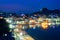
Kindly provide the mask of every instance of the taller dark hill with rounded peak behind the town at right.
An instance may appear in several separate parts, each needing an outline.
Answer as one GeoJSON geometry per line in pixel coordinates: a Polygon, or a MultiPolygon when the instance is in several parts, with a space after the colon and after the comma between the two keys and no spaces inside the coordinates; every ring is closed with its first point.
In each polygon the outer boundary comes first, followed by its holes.
{"type": "Polygon", "coordinates": [[[57,15],[60,16],[60,10],[58,10],[58,9],[49,10],[47,8],[43,8],[42,10],[39,10],[37,12],[34,12],[33,14],[41,14],[41,15],[42,14],[45,14],[45,15],[51,15],[51,14],[55,15],[55,14],[57,14],[57,15]]]}

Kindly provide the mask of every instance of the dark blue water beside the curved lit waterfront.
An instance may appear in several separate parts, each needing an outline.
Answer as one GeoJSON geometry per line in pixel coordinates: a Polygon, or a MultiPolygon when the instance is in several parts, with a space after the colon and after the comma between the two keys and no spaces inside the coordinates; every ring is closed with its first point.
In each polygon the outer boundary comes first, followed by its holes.
{"type": "Polygon", "coordinates": [[[55,28],[42,28],[27,29],[26,32],[35,40],[60,40],[60,26],[55,28]]]}

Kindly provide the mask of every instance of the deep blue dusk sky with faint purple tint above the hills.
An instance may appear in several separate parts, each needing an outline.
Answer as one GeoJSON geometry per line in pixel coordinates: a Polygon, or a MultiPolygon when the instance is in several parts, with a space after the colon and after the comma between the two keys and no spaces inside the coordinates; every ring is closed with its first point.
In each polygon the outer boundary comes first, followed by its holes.
{"type": "Polygon", "coordinates": [[[0,11],[33,12],[42,8],[60,9],[60,0],[0,0],[0,11]]]}

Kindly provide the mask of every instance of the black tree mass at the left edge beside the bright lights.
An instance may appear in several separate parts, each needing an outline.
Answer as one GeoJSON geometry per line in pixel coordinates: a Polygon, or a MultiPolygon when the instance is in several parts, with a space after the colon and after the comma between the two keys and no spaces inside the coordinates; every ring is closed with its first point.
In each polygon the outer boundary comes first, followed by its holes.
{"type": "Polygon", "coordinates": [[[0,35],[9,33],[9,24],[5,19],[0,19],[0,35]]]}

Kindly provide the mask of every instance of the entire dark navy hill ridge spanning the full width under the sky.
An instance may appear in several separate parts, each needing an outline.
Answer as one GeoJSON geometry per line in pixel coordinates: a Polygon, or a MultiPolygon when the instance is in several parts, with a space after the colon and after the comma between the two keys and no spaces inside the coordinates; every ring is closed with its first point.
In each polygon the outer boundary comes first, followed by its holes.
{"type": "Polygon", "coordinates": [[[60,10],[55,9],[55,10],[49,10],[47,8],[43,8],[39,11],[32,12],[32,13],[12,13],[12,12],[0,12],[0,16],[20,16],[21,14],[25,14],[27,16],[29,15],[34,15],[34,14],[40,14],[40,15],[58,15],[60,16],[60,10]]]}

